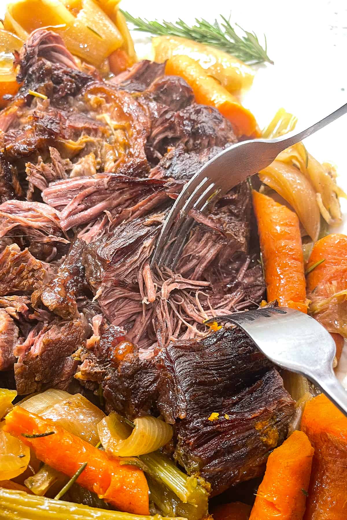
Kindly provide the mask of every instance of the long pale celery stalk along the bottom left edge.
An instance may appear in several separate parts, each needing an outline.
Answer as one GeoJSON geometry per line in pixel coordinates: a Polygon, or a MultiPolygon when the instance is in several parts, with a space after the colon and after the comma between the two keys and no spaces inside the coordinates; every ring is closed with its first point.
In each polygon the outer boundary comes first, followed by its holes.
{"type": "MultiPolygon", "coordinates": [[[[119,511],[89,508],[63,500],[28,495],[0,488],[1,518],[10,520],[162,520],[162,516],[134,515],[119,511]]],[[[166,520],[174,520],[166,518],[166,520]]],[[[176,520],[184,520],[176,518],[176,520]]],[[[186,520],[186,519],[185,519],[186,520]]]]}

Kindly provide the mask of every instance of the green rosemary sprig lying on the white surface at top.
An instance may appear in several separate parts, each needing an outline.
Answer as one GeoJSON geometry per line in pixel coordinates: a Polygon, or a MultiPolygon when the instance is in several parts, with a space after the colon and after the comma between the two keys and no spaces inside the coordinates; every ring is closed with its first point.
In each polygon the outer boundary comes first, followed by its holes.
{"type": "Polygon", "coordinates": [[[236,27],[244,33],[244,35],[239,36],[230,24],[229,19],[226,19],[224,16],[221,16],[223,20],[221,24],[217,20],[214,23],[210,23],[203,18],[201,20],[196,18],[196,24],[189,27],[181,18],[175,23],[166,22],[165,20],[160,23],[158,20],[149,21],[135,18],[127,11],[121,12],[125,16],[126,21],[132,22],[136,26],[135,31],[148,32],[158,36],[172,35],[189,38],[189,40],[218,47],[247,63],[262,63],[264,61],[273,63],[267,56],[265,34],[265,47],[262,47],[258,36],[254,32],[245,31],[236,23],[236,27]]]}

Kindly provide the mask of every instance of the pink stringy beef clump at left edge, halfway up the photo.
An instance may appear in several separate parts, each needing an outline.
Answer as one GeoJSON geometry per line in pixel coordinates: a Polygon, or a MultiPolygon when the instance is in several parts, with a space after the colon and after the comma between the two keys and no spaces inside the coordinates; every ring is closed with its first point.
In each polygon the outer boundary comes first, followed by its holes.
{"type": "Polygon", "coordinates": [[[65,238],[59,212],[40,202],[11,200],[0,205],[0,237],[10,235],[21,244],[27,244],[30,252],[49,262],[58,250],[63,253],[65,238]]]}

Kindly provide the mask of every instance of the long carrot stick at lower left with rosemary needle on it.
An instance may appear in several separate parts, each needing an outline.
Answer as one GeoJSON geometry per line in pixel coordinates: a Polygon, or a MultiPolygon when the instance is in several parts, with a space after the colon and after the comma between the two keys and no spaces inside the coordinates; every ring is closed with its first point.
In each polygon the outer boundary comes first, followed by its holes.
{"type": "Polygon", "coordinates": [[[19,406],[6,415],[4,430],[20,437],[33,448],[38,459],[69,477],[87,462],[76,482],[121,511],[149,514],[147,480],[137,467],[121,465],[117,459],[110,459],[105,451],[72,435],[55,422],[19,406]],[[49,432],[55,433],[45,437],[23,437],[23,434],[49,432]]]}

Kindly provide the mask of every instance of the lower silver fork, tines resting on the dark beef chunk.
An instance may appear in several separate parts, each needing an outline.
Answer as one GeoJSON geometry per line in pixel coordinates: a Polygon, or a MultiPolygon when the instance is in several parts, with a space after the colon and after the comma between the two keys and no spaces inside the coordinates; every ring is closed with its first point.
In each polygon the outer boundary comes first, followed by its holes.
{"type": "Polygon", "coordinates": [[[267,307],[205,323],[213,321],[237,325],[275,365],[305,375],[347,415],[347,392],[332,369],[335,341],[317,320],[299,310],[267,307]]]}

